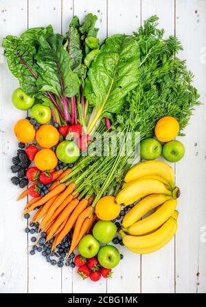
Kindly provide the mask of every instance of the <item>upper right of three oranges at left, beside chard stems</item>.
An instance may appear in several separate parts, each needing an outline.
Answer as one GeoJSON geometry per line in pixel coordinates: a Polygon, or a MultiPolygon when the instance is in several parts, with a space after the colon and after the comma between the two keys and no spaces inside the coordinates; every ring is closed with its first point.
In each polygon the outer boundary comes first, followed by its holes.
{"type": "Polygon", "coordinates": [[[36,132],[36,142],[44,148],[51,148],[59,141],[58,130],[49,124],[42,125],[36,132]]]}

